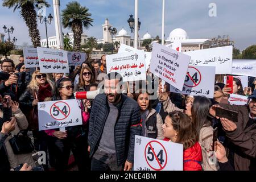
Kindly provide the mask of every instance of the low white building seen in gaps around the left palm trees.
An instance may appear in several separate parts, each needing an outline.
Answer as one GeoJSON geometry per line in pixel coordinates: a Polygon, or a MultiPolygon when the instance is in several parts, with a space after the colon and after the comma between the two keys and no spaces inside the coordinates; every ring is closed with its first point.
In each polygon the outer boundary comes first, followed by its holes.
{"type": "MultiPolygon", "coordinates": [[[[73,46],[74,34],[73,33],[69,33],[68,35],[69,35],[69,38],[71,40],[71,45],[73,46]]],[[[82,36],[81,36],[81,45],[84,45],[86,43],[87,38],[88,38],[87,35],[82,34],[82,36]]],[[[58,48],[57,47],[57,38],[56,38],[56,36],[51,36],[51,37],[48,38],[48,45],[49,45],[49,48],[58,48]]],[[[46,39],[42,39],[41,40],[41,46],[42,47],[47,47],[46,39]]]]}

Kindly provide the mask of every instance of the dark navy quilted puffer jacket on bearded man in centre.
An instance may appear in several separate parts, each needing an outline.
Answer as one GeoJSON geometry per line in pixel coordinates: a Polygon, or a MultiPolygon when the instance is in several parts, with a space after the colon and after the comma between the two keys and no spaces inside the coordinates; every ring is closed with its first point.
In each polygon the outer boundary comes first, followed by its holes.
{"type": "MultiPolygon", "coordinates": [[[[121,104],[118,106],[118,118],[115,122],[115,151],[117,164],[121,166],[127,160],[133,163],[135,135],[141,135],[141,114],[139,105],[133,99],[122,94],[121,104]]],[[[98,94],[94,100],[89,121],[88,143],[90,157],[97,150],[109,114],[108,98],[106,94],[98,94]]]]}

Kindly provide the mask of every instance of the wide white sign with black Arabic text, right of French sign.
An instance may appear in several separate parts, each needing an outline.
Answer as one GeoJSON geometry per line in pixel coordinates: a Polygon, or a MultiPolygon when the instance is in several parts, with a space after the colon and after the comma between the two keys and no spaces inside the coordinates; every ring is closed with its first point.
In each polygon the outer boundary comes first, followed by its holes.
{"type": "Polygon", "coordinates": [[[191,56],[189,65],[216,67],[215,74],[232,73],[232,46],[184,52],[191,56]]]}

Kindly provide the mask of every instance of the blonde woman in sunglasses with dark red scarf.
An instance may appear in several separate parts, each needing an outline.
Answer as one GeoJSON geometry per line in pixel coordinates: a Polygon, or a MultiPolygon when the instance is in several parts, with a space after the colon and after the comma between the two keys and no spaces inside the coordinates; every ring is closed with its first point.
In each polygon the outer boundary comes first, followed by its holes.
{"type": "Polygon", "coordinates": [[[38,131],[37,105],[38,102],[44,101],[47,97],[52,97],[53,87],[53,82],[46,73],[35,71],[27,89],[19,97],[20,106],[26,111],[24,114],[28,120],[28,130],[33,133],[35,149],[38,151],[47,152],[47,135],[43,131],[38,131]]]}

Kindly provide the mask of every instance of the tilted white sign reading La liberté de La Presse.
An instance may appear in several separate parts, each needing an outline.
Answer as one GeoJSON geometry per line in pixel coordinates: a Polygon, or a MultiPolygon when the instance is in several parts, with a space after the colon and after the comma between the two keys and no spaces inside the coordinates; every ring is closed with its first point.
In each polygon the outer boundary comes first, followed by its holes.
{"type": "Polygon", "coordinates": [[[153,43],[150,72],[182,90],[190,56],[153,43]]]}

